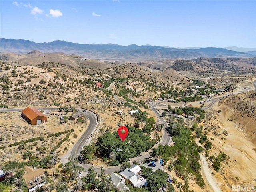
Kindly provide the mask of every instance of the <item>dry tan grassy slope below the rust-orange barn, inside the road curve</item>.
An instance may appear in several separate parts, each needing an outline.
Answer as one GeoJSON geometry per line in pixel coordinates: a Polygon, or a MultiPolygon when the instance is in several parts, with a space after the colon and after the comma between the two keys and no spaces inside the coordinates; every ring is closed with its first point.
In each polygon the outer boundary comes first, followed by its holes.
{"type": "MultiPolygon", "coordinates": [[[[54,112],[59,114],[60,112],[54,112]]],[[[64,132],[66,130],[74,129],[74,132],[70,135],[68,141],[64,142],[60,148],[58,148],[58,154],[62,155],[69,150],[76,142],[82,133],[86,130],[87,124],[74,123],[73,120],[68,120],[66,123],[61,123],[59,116],[45,114],[47,117],[46,124],[30,125],[21,117],[21,112],[5,112],[0,113],[0,135],[4,138],[0,141],[1,146],[5,146],[4,150],[0,150],[0,166],[7,160],[20,160],[26,150],[30,150],[34,155],[38,155],[36,150],[38,147],[47,147],[46,154],[49,154],[52,148],[56,146],[66,134],[62,134],[58,137],[47,138],[50,133],[64,132]],[[77,135],[77,138],[74,136],[77,135]],[[28,140],[43,136],[43,141],[36,141],[25,144],[26,149],[19,150],[18,146],[9,147],[12,144],[21,140],[28,140]],[[64,150],[64,147],[67,147],[64,150]]],[[[70,116],[71,112],[67,114],[70,116]]],[[[44,156],[44,155],[39,155],[44,156]]]]}

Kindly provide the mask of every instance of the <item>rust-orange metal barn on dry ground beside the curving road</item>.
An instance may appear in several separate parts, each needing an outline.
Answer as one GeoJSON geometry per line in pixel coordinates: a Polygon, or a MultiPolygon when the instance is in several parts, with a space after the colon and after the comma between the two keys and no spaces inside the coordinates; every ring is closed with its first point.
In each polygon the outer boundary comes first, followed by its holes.
{"type": "Polygon", "coordinates": [[[46,123],[47,118],[35,108],[27,107],[26,109],[21,111],[22,117],[26,119],[26,121],[32,125],[39,125],[41,123],[46,123]]]}

